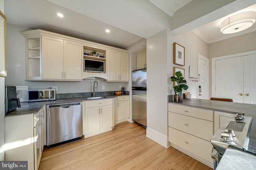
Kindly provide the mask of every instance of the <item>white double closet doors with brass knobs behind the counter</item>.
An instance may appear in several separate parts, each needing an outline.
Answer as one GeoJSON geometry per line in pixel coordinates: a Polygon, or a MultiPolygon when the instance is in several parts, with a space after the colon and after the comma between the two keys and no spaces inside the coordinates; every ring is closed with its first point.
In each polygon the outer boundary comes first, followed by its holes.
{"type": "Polygon", "coordinates": [[[213,96],[256,104],[256,54],[216,60],[213,96]]]}

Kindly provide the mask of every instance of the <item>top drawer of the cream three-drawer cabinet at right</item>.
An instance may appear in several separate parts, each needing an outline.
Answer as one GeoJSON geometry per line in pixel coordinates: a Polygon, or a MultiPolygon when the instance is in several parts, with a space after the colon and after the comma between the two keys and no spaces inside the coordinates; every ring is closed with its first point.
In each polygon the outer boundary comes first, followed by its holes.
{"type": "Polygon", "coordinates": [[[213,110],[199,109],[196,107],[181,106],[178,104],[168,104],[168,111],[188,115],[199,119],[213,121],[213,110]]]}

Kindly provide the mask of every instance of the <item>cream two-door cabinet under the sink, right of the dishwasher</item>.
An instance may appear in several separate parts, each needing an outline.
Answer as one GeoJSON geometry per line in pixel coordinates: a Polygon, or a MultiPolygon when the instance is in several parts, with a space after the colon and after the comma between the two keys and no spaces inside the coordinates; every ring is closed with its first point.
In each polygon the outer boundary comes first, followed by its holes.
{"type": "Polygon", "coordinates": [[[112,130],[113,99],[84,102],[83,135],[89,137],[112,130]]]}

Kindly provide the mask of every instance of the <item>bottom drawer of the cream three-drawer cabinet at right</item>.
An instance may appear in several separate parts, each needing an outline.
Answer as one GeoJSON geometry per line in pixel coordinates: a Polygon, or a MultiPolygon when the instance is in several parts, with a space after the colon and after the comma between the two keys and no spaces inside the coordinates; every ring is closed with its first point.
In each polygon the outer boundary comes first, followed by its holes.
{"type": "Polygon", "coordinates": [[[209,162],[213,162],[211,157],[212,144],[208,141],[171,127],[168,127],[168,141],[209,162]]]}

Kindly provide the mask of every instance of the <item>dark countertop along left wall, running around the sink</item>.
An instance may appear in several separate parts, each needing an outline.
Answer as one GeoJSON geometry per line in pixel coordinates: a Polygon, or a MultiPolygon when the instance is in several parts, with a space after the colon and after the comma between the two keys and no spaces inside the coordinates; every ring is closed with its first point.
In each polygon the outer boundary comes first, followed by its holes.
{"type": "MultiPolygon", "coordinates": [[[[94,99],[94,100],[105,100],[105,99],[114,98],[114,97],[118,97],[118,96],[110,95],[110,96],[106,96],[106,97],[107,98],[104,98],[104,99],[94,99]]],[[[45,104],[60,104],[60,103],[69,103],[69,102],[81,102],[81,101],[86,101],[86,100],[92,101],[92,100],[89,100],[87,98],[88,97],[56,99],[56,100],[53,100],[53,101],[42,101],[42,102],[21,102],[20,103],[20,108],[18,107],[16,110],[14,110],[11,113],[5,115],[5,117],[37,113],[45,104]]]]}

